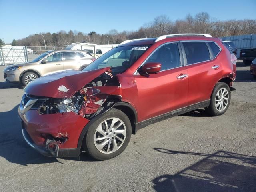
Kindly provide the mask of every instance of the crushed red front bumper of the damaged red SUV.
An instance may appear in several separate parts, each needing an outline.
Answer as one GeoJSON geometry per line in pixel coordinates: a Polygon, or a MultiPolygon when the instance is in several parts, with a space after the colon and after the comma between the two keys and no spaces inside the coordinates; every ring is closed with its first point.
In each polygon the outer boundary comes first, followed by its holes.
{"type": "Polygon", "coordinates": [[[86,118],[74,112],[40,115],[37,110],[28,110],[22,114],[20,108],[18,114],[25,141],[44,156],[61,158],[80,155],[78,139],[89,122],[86,118]],[[53,148],[48,145],[51,139],[55,139],[52,140],[53,148]]]}

